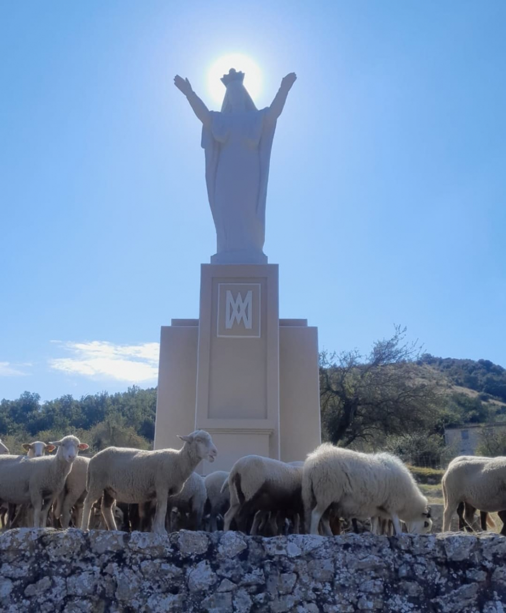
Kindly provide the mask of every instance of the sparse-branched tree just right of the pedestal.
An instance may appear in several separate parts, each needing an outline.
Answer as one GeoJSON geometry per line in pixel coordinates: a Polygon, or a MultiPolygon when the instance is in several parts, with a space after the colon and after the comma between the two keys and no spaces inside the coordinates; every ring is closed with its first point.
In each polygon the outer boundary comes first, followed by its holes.
{"type": "MultiPolygon", "coordinates": [[[[355,351],[320,355],[323,434],[334,444],[371,443],[385,435],[431,429],[444,388],[415,363],[420,348],[405,343],[406,328],[379,340],[368,356],[355,351]]],[[[428,367],[425,367],[428,368],[428,367]]]]}

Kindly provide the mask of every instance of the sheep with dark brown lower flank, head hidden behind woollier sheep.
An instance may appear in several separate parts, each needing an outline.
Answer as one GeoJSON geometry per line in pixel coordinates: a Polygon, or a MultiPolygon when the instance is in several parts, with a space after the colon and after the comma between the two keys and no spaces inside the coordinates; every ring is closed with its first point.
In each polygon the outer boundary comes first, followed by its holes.
{"type": "MultiPolygon", "coordinates": [[[[301,499],[302,467],[292,466],[279,460],[261,455],[245,455],[237,460],[228,475],[230,508],[225,513],[223,530],[230,530],[230,523],[236,516],[244,527],[244,520],[253,511],[271,511],[271,527],[277,532],[276,513],[295,517],[303,511],[301,499]]],[[[226,484],[222,485],[224,493],[226,484]]],[[[257,515],[251,527],[251,534],[257,532],[261,514],[257,515]]]]}

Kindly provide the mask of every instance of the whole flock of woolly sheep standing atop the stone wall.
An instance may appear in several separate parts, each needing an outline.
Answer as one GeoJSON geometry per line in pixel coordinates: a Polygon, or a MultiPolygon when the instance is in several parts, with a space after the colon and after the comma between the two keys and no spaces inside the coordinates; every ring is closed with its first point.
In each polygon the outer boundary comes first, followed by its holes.
{"type": "MultiPolygon", "coordinates": [[[[75,436],[25,444],[27,455],[9,455],[0,441],[2,527],[75,525],[162,534],[223,527],[264,536],[333,535],[343,522],[357,530],[358,521],[369,521],[377,534],[400,533],[401,522],[412,533],[432,528],[427,499],[394,455],[324,443],[304,462],[246,455],[230,473],[203,478],[195,469],[217,455],[210,434],[196,430],[179,438],[179,451],[107,447],[91,459],[78,455],[88,445],[75,436]]],[[[499,511],[503,519],[505,471],[506,458],[453,460],[442,479],[443,531],[455,511],[467,529],[476,509],[482,529],[489,512],[499,511]]]]}

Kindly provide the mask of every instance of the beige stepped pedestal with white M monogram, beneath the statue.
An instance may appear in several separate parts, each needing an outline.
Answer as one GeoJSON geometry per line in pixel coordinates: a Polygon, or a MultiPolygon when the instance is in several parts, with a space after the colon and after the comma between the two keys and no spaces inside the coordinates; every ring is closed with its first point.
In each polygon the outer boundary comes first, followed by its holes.
{"type": "Polygon", "coordinates": [[[279,319],[278,266],[203,264],[200,318],[162,327],[154,448],[208,430],[203,473],[247,454],[303,460],[320,443],[317,329],[279,319]]]}

